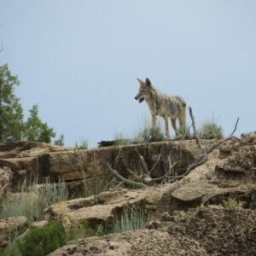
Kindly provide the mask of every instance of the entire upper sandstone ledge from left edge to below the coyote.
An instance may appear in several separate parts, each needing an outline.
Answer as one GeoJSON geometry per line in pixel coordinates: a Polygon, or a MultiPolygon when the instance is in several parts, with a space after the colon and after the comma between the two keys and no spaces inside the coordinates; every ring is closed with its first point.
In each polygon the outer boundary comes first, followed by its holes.
{"type": "MultiPolygon", "coordinates": [[[[144,143],[107,148],[83,150],[63,148],[46,143],[4,143],[0,144],[0,168],[9,168],[13,173],[11,187],[24,179],[44,182],[45,177],[53,181],[65,179],[67,182],[81,178],[108,177],[107,163],[119,173],[128,177],[129,170],[139,172],[142,163],[139,154],[147,162],[148,168],[160,160],[154,168],[153,177],[163,175],[169,165],[168,157],[177,161],[175,172],[182,173],[195,160],[197,147],[194,140],[144,143]]],[[[0,180],[1,183],[1,180],[0,180]]]]}

